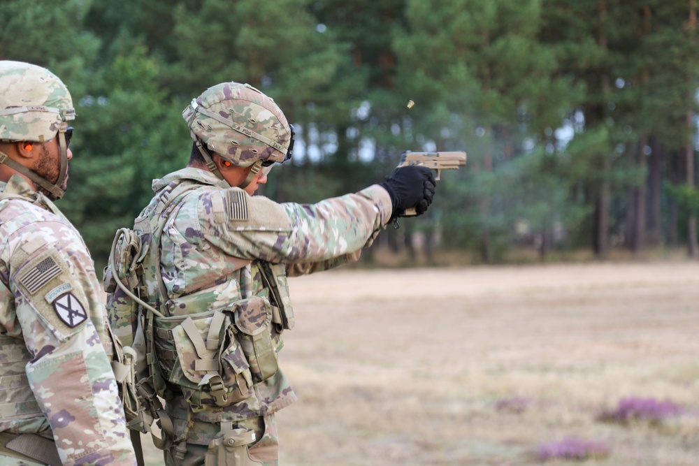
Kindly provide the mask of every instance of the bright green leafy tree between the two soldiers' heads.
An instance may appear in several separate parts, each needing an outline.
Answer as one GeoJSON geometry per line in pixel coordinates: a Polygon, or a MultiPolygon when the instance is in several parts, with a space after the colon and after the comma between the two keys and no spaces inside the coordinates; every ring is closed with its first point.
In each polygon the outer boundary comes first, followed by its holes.
{"type": "Polygon", "coordinates": [[[76,106],[69,191],[62,210],[97,258],[116,228],[131,226],[150,201],[151,182],[189,158],[185,103],[157,86],[159,67],[137,47],[94,75],[76,106]]]}

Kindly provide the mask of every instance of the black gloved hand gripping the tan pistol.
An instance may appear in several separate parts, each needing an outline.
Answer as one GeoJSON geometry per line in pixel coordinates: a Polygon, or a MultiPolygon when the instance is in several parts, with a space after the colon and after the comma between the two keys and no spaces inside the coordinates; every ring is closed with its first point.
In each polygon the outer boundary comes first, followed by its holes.
{"type": "Polygon", "coordinates": [[[415,207],[418,215],[427,212],[427,207],[432,203],[435,195],[435,177],[432,170],[425,166],[410,165],[394,168],[390,175],[385,177],[381,186],[389,191],[393,214],[391,219],[403,217],[405,209],[415,207]]]}

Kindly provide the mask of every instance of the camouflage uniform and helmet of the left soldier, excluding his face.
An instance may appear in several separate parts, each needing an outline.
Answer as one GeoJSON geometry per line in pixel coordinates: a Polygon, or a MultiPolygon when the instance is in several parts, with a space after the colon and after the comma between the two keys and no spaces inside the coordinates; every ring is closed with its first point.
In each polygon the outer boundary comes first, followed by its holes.
{"type": "Polygon", "coordinates": [[[50,71],[0,61],[0,140],[41,145],[56,139],[61,152],[55,183],[0,153],[0,163],[24,175],[0,182],[3,466],[43,464],[12,451],[15,441],[31,442],[22,451],[32,458],[52,451],[59,457],[45,460],[52,463],[136,464],[94,264],[78,231],[25,178],[51,198],[63,195],[67,122],[74,117],[68,89],[50,71]]]}

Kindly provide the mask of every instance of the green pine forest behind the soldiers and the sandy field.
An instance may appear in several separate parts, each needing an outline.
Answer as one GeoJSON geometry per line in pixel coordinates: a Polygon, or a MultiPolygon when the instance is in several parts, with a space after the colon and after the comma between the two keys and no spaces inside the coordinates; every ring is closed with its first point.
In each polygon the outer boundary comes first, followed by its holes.
{"type": "MultiPolygon", "coordinates": [[[[312,203],[404,150],[464,150],[382,244],[470,261],[697,255],[696,0],[2,0],[0,59],[47,66],[78,118],[61,209],[103,265],[187,163],[181,112],[248,82],[294,124],[263,194],[312,203]],[[408,108],[408,100],[415,102],[408,108]],[[419,233],[415,235],[415,233],[419,233]]],[[[380,246],[380,245],[379,245],[380,246]]],[[[370,251],[365,261],[372,261],[370,251]]],[[[410,258],[410,256],[408,256],[410,258]]]]}

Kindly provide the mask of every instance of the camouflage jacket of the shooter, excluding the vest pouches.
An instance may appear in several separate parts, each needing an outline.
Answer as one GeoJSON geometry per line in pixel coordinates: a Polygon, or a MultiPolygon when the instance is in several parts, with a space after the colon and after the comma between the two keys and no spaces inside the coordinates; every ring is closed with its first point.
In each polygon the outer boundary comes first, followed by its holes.
{"type": "MultiPolygon", "coordinates": [[[[253,296],[268,298],[261,276],[265,262],[286,264],[299,274],[356,260],[391,216],[389,194],[378,185],[313,205],[279,204],[231,188],[206,170],[185,168],[155,180],[153,189],[173,189],[182,182],[200,186],[177,203],[161,237],[162,278],[175,316],[230,310],[233,303],[253,296]]],[[[160,202],[156,196],[136,222],[152,216],[160,202]]],[[[282,276],[278,281],[285,280],[282,276]]],[[[157,283],[147,282],[142,289],[145,300],[154,303],[157,283]]],[[[111,324],[120,335],[131,331],[132,322],[127,317],[111,324]]],[[[280,349],[280,335],[271,328],[280,349]]],[[[188,411],[195,422],[187,442],[206,446],[225,423],[268,416],[296,400],[282,370],[254,384],[251,391],[240,402],[197,407],[194,413],[181,394],[175,395],[166,402],[175,437],[185,432],[188,411]]]]}

